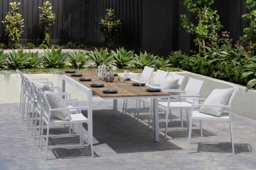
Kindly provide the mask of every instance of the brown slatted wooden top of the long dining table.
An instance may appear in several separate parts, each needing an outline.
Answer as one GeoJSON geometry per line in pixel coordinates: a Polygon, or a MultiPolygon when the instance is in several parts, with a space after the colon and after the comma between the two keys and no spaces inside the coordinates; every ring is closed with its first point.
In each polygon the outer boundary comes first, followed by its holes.
{"type": "Polygon", "coordinates": [[[133,86],[132,83],[135,83],[136,81],[129,80],[127,81],[128,86],[126,85],[126,81],[124,82],[124,92],[125,93],[120,93],[122,91],[122,84],[118,80],[119,76],[115,76],[115,80],[113,82],[105,82],[102,80],[94,81],[96,80],[96,73],[92,71],[88,72],[79,72],[79,73],[74,73],[74,74],[83,74],[81,77],[72,77],[70,76],[70,73],[65,73],[65,72],[59,72],[60,74],[66,75],[73,80],[81,83],[82,85],[92,89],[92,92],[97,94],[98,96],[102,98],[109,98],[109,97],[149,97],[150,96],[170,96],[170,94],[166,92],[157,92],[157,93],[152,93],[152,92],[147,92],[146,89],[152,89],[152,87],[149,86],[141,86],[141,92],[139,92],[140,87],[139,86],[133,86]],[[85,76],[86,75],[86,76],[85,76]],[[91,78],[92,81],[79,81],[79,78],[91,78]],[[104,84],[104,87],[102,88],[93,88],[90,86],[90,84],[104,84]],[[111,87],[107,87],[107,85],[110,85],[111,87]],[[102,90],[118,90],[117,93],[115,94],[106,94],[103,93],[102,90]]]}

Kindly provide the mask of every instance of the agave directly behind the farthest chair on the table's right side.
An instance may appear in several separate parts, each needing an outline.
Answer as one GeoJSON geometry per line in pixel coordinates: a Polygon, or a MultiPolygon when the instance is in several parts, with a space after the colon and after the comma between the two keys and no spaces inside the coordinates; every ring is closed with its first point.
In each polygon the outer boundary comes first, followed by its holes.
{"type": "Polygon", "coordinates": [[[135,65],[141,69],[143,69],[145,66],[155,67],[159,63],[159,61],[156,59],[157,56],[154,56],[153,54],[151,55],[150,53],[147,54],[146,51],[144,54],[140,52],[140,56],[137,54],[135,54],[135,56],[137,60],[135,65]]]}

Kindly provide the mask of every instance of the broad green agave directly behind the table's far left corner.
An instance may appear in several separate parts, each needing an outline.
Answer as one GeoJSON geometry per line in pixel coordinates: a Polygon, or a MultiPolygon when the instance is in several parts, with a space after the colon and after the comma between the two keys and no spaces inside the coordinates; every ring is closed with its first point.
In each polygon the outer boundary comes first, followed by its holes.
{"type": "Polygon", "coordinates": [[[69,53],[61,53],[62,49],[58,48],[55,50],[54,46],[51,47],[51,51],[49,49],[44,50],[43,59],[45,61],[45,67],[54,67],[54,68],[62,68],[65,65],[65,62],[69,60],[69,53]]]}

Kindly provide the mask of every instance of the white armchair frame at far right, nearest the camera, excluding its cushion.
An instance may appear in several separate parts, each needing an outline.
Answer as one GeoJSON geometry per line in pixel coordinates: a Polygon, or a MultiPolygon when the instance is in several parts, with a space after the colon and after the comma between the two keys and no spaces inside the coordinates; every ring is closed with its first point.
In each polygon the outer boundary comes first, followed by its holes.
{"type": "MultiPolygon", "coordinates": [[[[232,129],[232,113],[231,113],[231,103],[234,99],[234,96],[236,95],[238,91],[238,87],[234,86],[234,91],[229,99],[228,105],[203,105],[203,104],[192,104],[191,105],[191,113],[190,113],[190,125],[189,125],[189,138],[187,141],[187,153],[189,153],[189,145],[191,140],[191,133],[192,133],[192,122],[193,120],[199,120],[200,122],[200,133],[201,137],[203,137],[203,129],[202,129],[202,120],[210,120],[210,121],[227,121],[229,122],[229,128],[230,128],[230,137],[231,137],[231,143],[232,143],[232,151],[234,154],[234,138],[233,138],[233,129],[232,129]],[[222,113],[221,116],[213,116],[210,114],[201,113],[199,111],[195,111],[195,107],[201,107],[201,106],[207,106],[207,107],[217,107],[217,108],[226,108],[228,109],[228,113],[222,113]]],[[[195,101],[203,101],[206,100],[206,98],[195,98],[195,101]]]]}

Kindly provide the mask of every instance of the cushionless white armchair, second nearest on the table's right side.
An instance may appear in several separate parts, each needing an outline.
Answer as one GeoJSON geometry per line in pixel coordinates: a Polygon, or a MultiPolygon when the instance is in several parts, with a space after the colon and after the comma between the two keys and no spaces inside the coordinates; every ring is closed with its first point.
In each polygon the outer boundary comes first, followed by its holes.
{"type": "MultiPolygon", "coordinates": [[[[188,117],[188,109],[191,109],[191,105],[193,104],[194,98],[200,97],[200,91],[203,86],[202,80],[197,80],[194,78],[189,78],[189,81],[187,82],[187,85],[185,87],[185,90],[166,90],[166,92],[181,92],[185,93],[184,95],[171,95],[170,97],[185,97],[184,102],[159,102],[159,109],[160,110],[167,110],[167,106],[170,109],[180,109],[181,110],[181,127],[183,128],[183,115],[182,115],[182,109],[186,109],[186,115],[187,115],[187,130],[189,130],[189,117],[188,117]]],[[[170,117],[171,119],[171,117],[170,117]]],[[[166,132],[165,132],[165,139],[167,137],[167,128],[168,128],[168,114],[166,116],[166,132]]]]}

